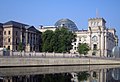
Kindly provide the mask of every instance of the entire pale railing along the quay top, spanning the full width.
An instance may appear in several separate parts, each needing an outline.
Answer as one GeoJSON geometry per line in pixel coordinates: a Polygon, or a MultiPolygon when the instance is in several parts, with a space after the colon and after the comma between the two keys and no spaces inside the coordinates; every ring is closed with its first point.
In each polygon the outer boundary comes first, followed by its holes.
{"type": "Polygon", "coordinates": [[[93,56],[80,56],[80,54],[73,53],[47,53],[47,52],[15,52],[15,51],[0,51],[0,57],[29,57],[29,58],[89,58],[89,59],[111,59],[120,60],[120,58],[113,57],[93,57],[93,56]]]}

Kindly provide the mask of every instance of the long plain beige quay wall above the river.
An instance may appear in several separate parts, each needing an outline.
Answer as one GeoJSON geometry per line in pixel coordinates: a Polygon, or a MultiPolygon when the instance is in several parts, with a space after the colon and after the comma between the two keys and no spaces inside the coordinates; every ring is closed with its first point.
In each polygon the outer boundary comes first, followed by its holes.
{"type": "Polygon", "coordinates": [[[40,58],[40,57],[0,57],[0,67],[28,66],[78,66],[78,65],[120,65],[114,58],[40,58]]]}

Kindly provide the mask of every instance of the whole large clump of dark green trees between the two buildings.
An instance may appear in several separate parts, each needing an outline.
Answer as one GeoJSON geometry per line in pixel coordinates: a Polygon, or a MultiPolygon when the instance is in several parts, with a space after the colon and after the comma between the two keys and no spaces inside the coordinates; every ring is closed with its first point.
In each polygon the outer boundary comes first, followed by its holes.
{"type": "Polygon", "coordinates": [[[54,32],[47,30],[42,34],[43,52],[69,52],[75,35],[67,28],[57,28],[54,32]]]}

